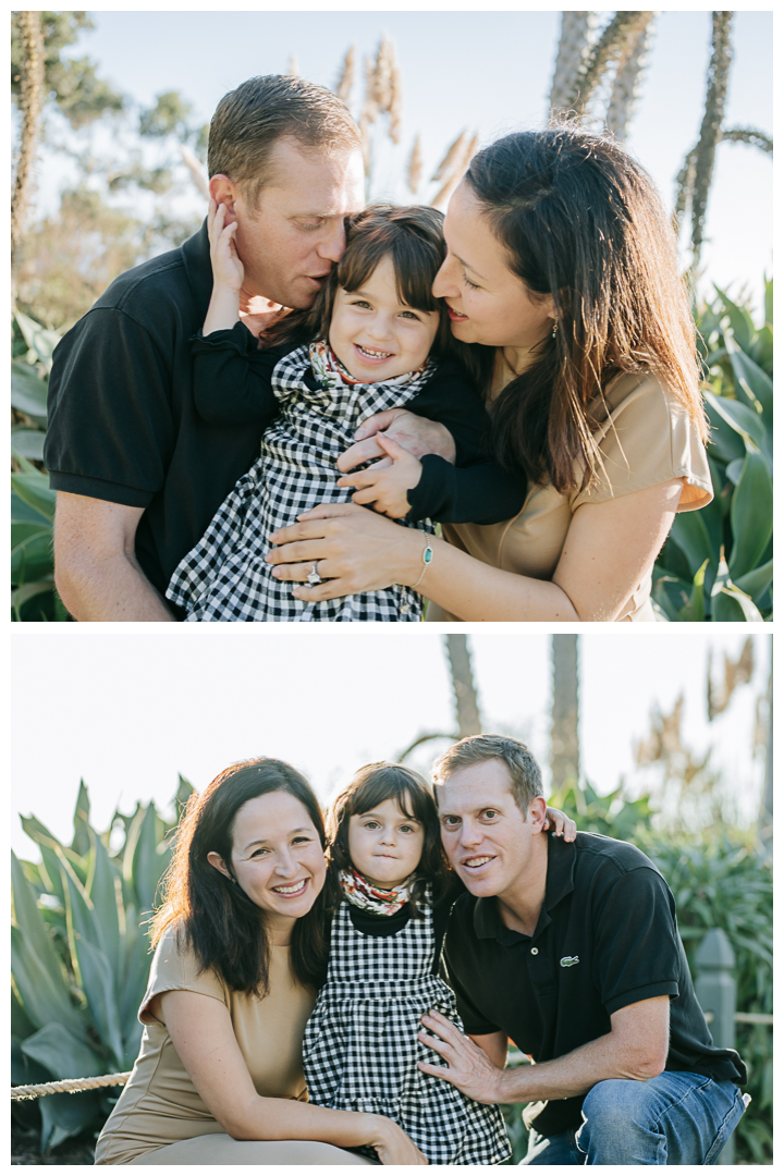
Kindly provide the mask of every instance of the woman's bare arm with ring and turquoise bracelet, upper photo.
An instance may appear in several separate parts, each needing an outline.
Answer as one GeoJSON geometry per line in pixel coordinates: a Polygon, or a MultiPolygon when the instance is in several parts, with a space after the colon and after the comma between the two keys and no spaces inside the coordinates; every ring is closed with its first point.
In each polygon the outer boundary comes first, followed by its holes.
{"type": "MultiPolygon", "coordinates": [[[[421,590],[463,621],[615,621],[664,543],[682,489],[672,479],[578,507],[552,580],[492,568],[434,539],[421,590]]],[[[274,575],[299,581],[300,600],[414,584],[423,569],[421,532],[351,503],[316,507],[273,542],[274,575]],[[314,562],[324,582],[308,587],[314,562]]]]}

